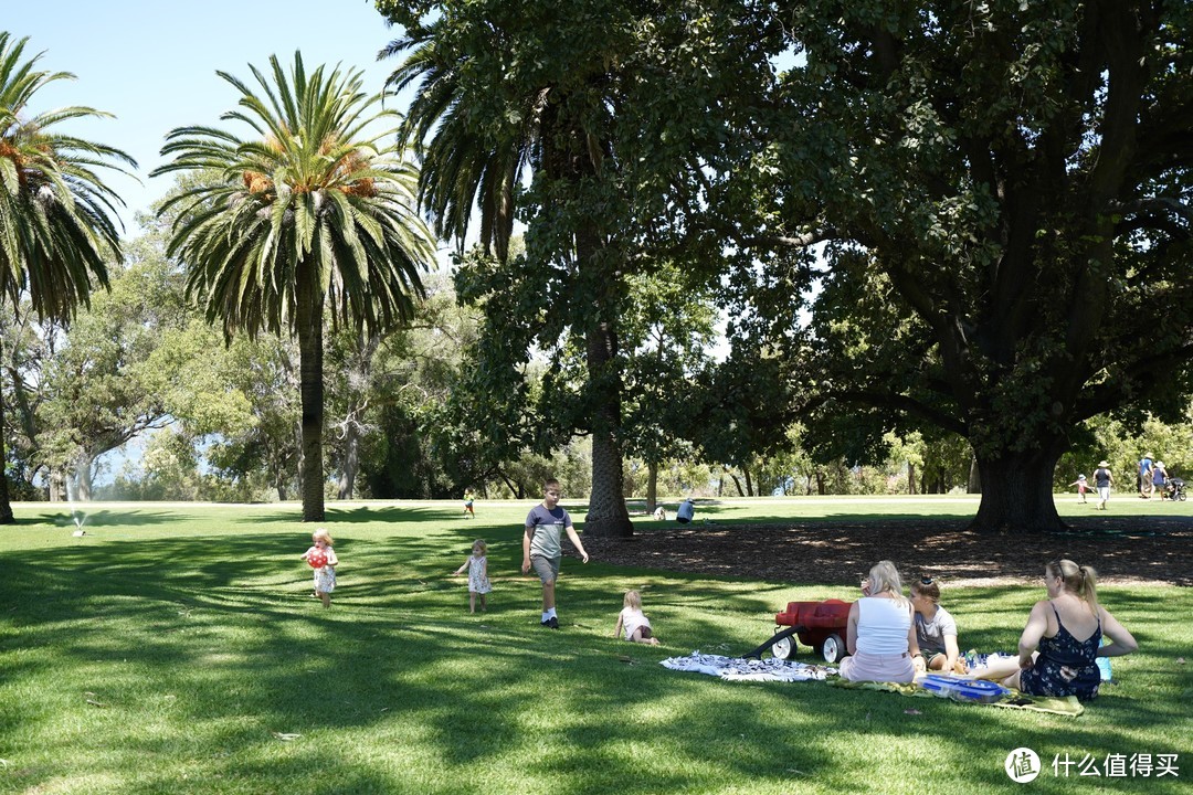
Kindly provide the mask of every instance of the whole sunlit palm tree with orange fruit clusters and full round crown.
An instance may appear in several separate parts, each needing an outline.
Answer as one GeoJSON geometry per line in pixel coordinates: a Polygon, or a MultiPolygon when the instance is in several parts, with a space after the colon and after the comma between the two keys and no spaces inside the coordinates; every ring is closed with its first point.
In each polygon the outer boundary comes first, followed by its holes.
{"type": "Polygon", "coordinates": [[[268,75],[251,67],[260,94],[217,73],[240,92],[240,110],[222,118],[248,138],[179,128],[154,175],[196,175],[159,212],[177,212],[168,254],[186,262],[187,293],[224,339],[284,328],[298,339],[303,521],[317,522],[324,317],[369,335],[408,321],[434,244],[415,210],[418,170],[382,143],[395,130],[381,123],[397,117],[383,94],[364,94],[358,70],[308,75],[298,52],[289,74],[276,56],[270,64],[268,75]]]}

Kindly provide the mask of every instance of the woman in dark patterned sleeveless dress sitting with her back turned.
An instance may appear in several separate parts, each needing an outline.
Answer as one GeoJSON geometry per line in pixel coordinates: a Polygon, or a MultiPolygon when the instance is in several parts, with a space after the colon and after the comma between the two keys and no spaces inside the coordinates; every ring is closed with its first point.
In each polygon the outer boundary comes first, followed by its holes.
{"type": "Polygon", "coordinates": [[[1006,678],[1008,688],[1034,696],[1098,696],[1099,657],[1121,657],[1139,647],[1135,638],[1098,603],[1096,573],[1071,560],[1044,567],[1049,598],[1037,602],[1019,638],[1019,670],[991,665],[983,679],[1006,678]],[[1102,646],[1102,633],[1111,644],[1102,646]]]}

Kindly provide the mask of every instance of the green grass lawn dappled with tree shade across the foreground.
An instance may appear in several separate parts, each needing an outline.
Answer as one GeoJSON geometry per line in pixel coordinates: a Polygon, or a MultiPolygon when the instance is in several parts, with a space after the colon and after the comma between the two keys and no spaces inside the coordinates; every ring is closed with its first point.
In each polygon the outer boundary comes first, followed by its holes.
{"type": "MultiPolygon", "coordinates": [[[[1137,501],[1142,502],[1142,501],[1137,501]]],[[[1058,497],[1063,514],[1074,509],[1058,497]]],[[[310,597],[295,505],[18,504],[0,528],[0,790],[13,793],[977,793],[1015,787],[1033,749],[1045,791],[1187,791],[1193,592],[1106,586],[1141,651],[1077,718],[823,683],[727,683],[659,660],[740,654],[791,600],[853,583],[747,582],[567,559],[562,631],[523,577],[531,503],[332,505],[340,586],[310,597]],[[449,574],[489,542],[489,613],[449,574]],[[643,590],[662,645],[611,638],[643,590]],[[909,712],[910,710],[910,712],[909,712]],[[1180,777],[1057,777],[1056,754],[1180,754],[1180,777]]],[[[756,499],[717,521],[970,516],[971,498],[756,499]]],[[[569,510],[574,507],[568,505],[569,510]]],[[[1112,507],[1139,505],[1123,497],[1112,507]]],[[[1183,505],[1173,513],[1185,513],[1183,505]]],[[[577,518],[582,511],[573,510],[577,518]]],[[[1022,588],[950,589],[962,645],[1010,648],[1022,588]]],[[[810,656],[804,650],[804,656],[810,656]]]]}

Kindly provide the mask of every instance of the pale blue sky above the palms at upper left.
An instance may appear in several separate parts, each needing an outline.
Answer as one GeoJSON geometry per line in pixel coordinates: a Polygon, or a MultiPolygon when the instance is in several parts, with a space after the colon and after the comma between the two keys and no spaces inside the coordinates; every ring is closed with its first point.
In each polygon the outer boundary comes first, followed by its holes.
{"type": "MultiPolygon", "coordinates": [[[[137,160],[143,185],[119,175],[106,181],[128,204],[122,212],[134,231],[134,211],[147,211],[166,193],[172,176],[150,180],[162,160],[165,135],[188,124],[218,124],[235,106],[236,91],[216,76],[246,81],[248,64],[283,63],[301,50],[308,69],[340,63],[365,72],[365,88],[381,91],[397,66],[377,62],[377,51],[401,32],[372,0],[42,0],[5,2],[0,30],[29,37],[26,57],[44,52],[38,68],[70,72],[38,92],[33,111],[88,105],[116,119],[62,126],[62,131],[123,149],[137,160]]],[[[230,128],[236,129],[236,128],[230,128]]]]}

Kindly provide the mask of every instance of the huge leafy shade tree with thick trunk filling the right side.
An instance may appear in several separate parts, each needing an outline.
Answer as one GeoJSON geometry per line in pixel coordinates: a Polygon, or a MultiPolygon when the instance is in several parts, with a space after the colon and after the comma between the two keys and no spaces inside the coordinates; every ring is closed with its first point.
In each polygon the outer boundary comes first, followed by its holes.
{"type": "Polygon", "coordinates": [[[738,343],[787,364],[811,431],[969,439],[976,527],[1059,527],[1075,429],[1191,389],[1193,5],[812,0],[756,20],[797,57],[705,193],[756,277],[738,343]],[[793,297],[812,294],[809,324],[793,297]]]}

